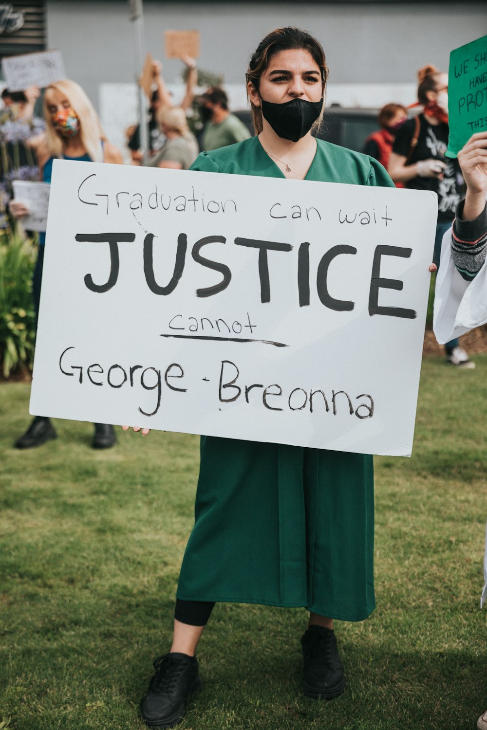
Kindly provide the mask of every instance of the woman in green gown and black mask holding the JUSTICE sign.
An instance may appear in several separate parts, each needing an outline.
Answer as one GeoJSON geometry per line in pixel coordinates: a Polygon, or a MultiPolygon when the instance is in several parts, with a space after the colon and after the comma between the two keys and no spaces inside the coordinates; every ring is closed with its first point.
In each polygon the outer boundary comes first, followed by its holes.
{"type": "MultiPolygon", "coordinates": [[[[327,74],[310,34],[273,31],[247,72],[256,137],[202,153],[192,169],[394,187],[377,161],[312,137],[327,74]]],[[[363,621],[374,609],[373,545],[372,456],[202,437],[174,640],[154,662],[145,723],[172,727],[183,718],[185,699],[201,686],[196,646],[217,601],[306,607],[304,693],[342,694],[334,619],[363,621]]]]}

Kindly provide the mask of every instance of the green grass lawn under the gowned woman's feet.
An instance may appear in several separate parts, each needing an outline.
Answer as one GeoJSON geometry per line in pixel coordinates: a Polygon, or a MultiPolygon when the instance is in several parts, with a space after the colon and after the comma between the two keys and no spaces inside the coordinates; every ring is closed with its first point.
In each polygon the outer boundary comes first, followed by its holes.
{"type": "MultiPolygon", "coordinates": [[[[181,730],[469,730],[487,707],[487,356],[423,361],[413,457],[376,458],[377,609],[337,623],[347,675],[332,702],[301,690],[300,609],[217,604],[204,691],[181,730]]],[[[29,386],[0,385],[0,727],[137,730],[152,660],[169,648],[193,521],[198,439],[92,427],[12,448],[29,386]]]]}

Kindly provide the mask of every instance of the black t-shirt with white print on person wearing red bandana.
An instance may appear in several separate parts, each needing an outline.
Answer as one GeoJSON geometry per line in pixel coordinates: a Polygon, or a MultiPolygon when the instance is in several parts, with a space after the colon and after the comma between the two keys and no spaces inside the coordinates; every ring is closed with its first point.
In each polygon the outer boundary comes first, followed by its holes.
{"type": "MultiPolygon", "coordinates": [[[[453,220],[456,207],[464,193],[464,180],[458,160],[445,157],[448,147],[448,124],[429,124],[423,114],[419,115],[420,129],[418,145],[414,148],[408,165],[431,158],[441,160],[446,164],[443,180],[437,177],[413,177],[404,183],[407,188],[414,190],[431,190],[438,196],[438,220],[453,220]]],[[[396,155],[406,157],[410,153],[411,139],[415,131],[415,120],[409,119],[396,132],[396,139],[392,151],[396,155]]]]}

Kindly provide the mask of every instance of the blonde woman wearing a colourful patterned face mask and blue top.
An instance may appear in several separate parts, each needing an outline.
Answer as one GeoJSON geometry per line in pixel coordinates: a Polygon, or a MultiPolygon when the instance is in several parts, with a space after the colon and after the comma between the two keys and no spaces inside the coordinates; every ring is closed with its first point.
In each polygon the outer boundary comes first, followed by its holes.
{"type": "MultiPolygon", "coordinates": [[[[51,182],[55,158],[84,162],[122,162],[120,152],[104,136],[98,115],[83,89],[74,81],[63,80],[47,87],[44,96],[46,122],[45,143],[38,149],[41,177],[51,182]]],[[[12,215],[21,218],[28,209],[15,200],[10,202],[12,215]]],[[[45,234],[39,234],[39,253],[34,269],[34,304],[39,315],[39,300],[44,263],[45,234]]],[[[28,430],[16,442],[19,449],[40,446],[57,437],[49,418],[35,416],[28,430]]],[[[93,448],[115,444],[115,431],[107,423],[95,423],[93,448]]]]}

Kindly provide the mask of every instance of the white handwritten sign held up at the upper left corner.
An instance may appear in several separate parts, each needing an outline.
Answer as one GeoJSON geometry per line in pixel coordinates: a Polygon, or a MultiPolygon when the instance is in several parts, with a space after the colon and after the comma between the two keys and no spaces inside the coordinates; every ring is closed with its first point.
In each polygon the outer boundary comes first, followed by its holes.
{"type": "Polygon", "coordinates": [[[3,58],[1,70],[9,91],[24,91],[29,86],[45,88],[66,78],[60,50],[45,50],[3,58]]]}

